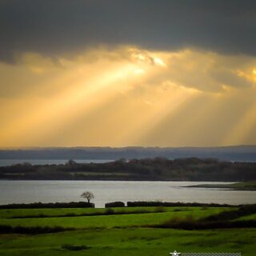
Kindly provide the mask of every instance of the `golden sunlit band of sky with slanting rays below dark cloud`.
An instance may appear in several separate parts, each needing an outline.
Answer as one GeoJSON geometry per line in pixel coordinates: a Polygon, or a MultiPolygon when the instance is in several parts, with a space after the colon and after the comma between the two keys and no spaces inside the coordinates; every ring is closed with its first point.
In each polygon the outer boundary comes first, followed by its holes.
{"type": "Polygon", "coordinates": [[[95,48],[0,65],[1,146],[256,143],[256,58],[95,48]]]}

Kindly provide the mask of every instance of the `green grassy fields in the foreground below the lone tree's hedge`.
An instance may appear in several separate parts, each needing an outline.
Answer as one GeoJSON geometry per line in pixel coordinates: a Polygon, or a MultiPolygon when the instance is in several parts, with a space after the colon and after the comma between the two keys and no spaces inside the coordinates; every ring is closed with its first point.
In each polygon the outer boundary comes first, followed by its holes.
{"type": "MultiPolygon", "coordinates": [[[[166,224],[237,211],[201,206],[0,210],[0,225],[17,228],[1,231],[0,255],[168,255],[177,250],[253,256],[255,228],[184,230],[166,224]],[[43,226],[49,230],[38,229],[43,226]]],[[[255,221],[256,216],[247,213],[237,219],[242,218],[255,221]]]]}

